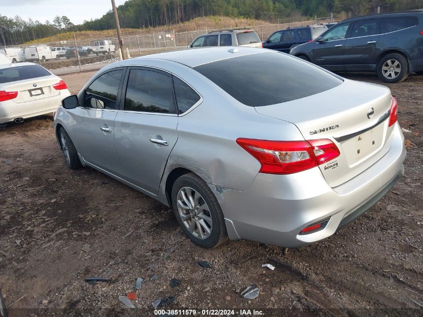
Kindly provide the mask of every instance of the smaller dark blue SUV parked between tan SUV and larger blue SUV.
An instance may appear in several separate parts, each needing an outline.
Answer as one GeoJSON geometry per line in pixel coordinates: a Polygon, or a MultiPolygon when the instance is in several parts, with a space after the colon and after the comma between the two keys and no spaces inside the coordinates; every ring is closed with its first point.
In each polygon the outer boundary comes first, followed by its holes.
{"type": "Polygon", "coordinates": [[[292,47],[310,42],[326,30],[327,27],[323,25],[279,30],[274,32],[266,41],[263,42],[263,48],[289,53],[289,50],[292,47]]]}

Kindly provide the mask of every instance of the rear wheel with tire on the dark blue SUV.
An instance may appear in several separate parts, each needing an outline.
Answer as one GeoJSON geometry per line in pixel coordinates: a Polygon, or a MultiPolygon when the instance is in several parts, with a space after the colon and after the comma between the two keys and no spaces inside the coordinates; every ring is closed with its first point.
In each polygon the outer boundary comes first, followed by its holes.
{"type": "Polygon", "coordinates": [[[408,76],[408,61],[402,54],[388,54],[377,63],[376,72],[384,83],[402,82],[408,76]]]}

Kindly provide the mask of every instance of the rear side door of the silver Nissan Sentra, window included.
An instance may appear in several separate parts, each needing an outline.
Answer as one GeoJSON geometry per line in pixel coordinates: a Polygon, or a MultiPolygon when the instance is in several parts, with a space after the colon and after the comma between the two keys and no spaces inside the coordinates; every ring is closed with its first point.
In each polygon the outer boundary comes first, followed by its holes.
{"type": "Polygon", "coordinates": [[[115,119],[115,148],[124,178],[157,194],[178,139],[172,77],[159,70],[131,68],[124,87],[115,119]]]}

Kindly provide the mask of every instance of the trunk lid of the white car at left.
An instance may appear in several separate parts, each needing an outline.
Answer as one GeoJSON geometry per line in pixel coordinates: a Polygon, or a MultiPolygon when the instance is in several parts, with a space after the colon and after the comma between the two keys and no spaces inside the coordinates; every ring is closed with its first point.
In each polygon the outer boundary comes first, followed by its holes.
{"type": "Polygon", "coordinates": [[[59,83],[59,81],[60,78],[52,75],[11,83],[4,83],[1,85],[5,91],[18,92],[18,96],[12,100],[19,104],[27,101],[39,100],[59,95],[60,90],[53,88],[53,85],[59,83]]]}

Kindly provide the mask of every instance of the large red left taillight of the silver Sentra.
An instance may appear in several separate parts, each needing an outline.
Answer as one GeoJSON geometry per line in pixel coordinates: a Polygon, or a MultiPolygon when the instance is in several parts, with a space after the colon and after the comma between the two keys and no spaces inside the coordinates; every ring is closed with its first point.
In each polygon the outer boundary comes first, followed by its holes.
{"type": "Polygon", "coordinates": [[[328,162],[339,150],[327,139],[311,141],[269,141],[236,139],[236,143],[261,164],[260,173],[292,174],[328,162]]]}

